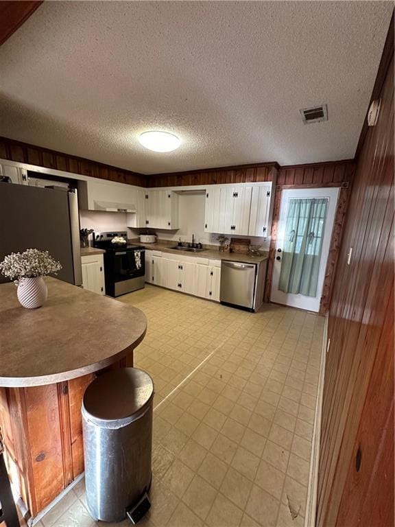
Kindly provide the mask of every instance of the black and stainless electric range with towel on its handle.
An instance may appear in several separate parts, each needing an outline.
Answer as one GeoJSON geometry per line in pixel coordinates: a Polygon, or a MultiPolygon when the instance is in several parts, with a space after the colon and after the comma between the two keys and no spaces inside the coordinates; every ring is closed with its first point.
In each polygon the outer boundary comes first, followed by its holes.
{"type": "Polygon", "coordinates": [[[145,287],[145,248],[128,243],[114,243],[114,238],[127,239],[128,233],[95,233],[94,246],[104,253],[106,294],[119,296],[145,287]]]}

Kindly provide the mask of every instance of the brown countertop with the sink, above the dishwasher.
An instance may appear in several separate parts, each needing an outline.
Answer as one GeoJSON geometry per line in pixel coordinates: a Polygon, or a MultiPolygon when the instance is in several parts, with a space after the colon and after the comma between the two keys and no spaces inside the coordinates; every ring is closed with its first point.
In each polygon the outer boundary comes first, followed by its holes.
{"type": "Polygon", "coordinates": [[[177,242],[165,242],[159,240],[154,244],[143,244],[138,239],[130,239],[128,243],[145,247],[146,250],[160,250],[163,253],[169,253],[172,255],[184,255],[193,256],[195,258],[208,258],[211,260],[230,260],[230,261],[242,261],[246,264],[259,264],[261,261],[267,260],[268,254],[264,253],[259,256],[242,255],[241,253],[220,253],[217,249],[204,249],[201,253],[189,253],[184,250],[171,249],[171,246],[177,245],[177,242]]]}

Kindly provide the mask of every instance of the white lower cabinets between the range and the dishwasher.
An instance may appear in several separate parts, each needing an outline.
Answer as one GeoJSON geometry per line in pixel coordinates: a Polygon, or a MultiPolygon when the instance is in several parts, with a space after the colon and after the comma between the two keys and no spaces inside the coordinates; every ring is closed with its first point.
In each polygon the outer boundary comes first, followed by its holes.
{"type": "Polygon", "coordinates": [[[219,302],[221,261],[145,250],[145,281],[219,302]]]}

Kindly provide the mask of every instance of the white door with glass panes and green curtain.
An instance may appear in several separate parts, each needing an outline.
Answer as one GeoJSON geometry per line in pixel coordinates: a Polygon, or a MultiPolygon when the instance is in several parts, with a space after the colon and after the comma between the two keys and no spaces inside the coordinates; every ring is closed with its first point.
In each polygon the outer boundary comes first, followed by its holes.
{"type": "Polygon", "coordinates": [[[283,190],[270,300],[318,312],[339,187],[283,190]]]}

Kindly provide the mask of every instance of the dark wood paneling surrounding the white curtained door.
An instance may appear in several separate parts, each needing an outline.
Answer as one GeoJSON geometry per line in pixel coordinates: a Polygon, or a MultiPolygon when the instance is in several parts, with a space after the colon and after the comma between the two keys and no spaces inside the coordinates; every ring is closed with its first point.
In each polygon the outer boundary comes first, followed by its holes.
{"type": "Polygon", "coordinates": [[[274,198],[272,233],[270,240],[269,261],[267,263],[267,277],[265,288],[265,300],[270,299],[272,288],[272,273],[274,257],[276,252],[277,225],[280,218],[280,204],[283,189],[318,188],[318,187],[341,187],[339,202],[333,225],[331,246],[329,248],[328,261],[322,290],[320,313],[328,312],[328,305],[333,287],[333,276],[339,255],[340,242],[342,240],[342,229],[346,215],[350,184],[355,170],[352,160],[336,161],[332,163],[315,163],[314,165],[294,165],[280,168],[278,172],[276,195],[274,198]]]}

